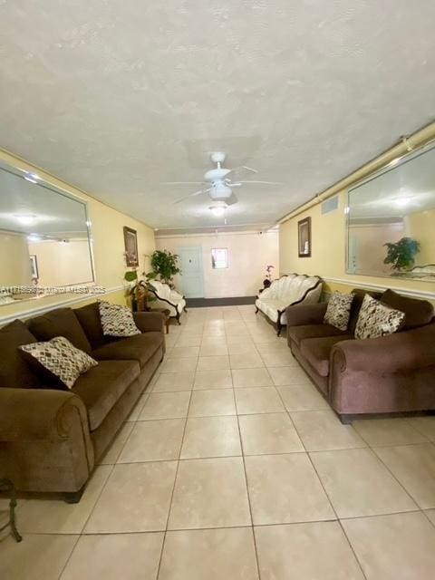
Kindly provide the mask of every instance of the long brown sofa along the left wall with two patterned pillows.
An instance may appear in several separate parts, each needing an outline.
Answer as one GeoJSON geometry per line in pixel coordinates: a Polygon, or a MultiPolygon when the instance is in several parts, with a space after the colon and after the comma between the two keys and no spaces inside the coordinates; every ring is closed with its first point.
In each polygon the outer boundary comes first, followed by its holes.
{"type": "Polygon", "coordinates": [[[0,329],[0,477],[12,479],[18,490],[80,499],[165,352],[163,314],[133,315],[141,333],[124,339],[103,335],[97,303],[0,329]],[[54,336],[65,336],[99,362],[71,391],[34,372],[17,348],[54,336]]]}

